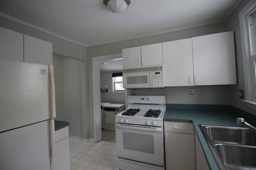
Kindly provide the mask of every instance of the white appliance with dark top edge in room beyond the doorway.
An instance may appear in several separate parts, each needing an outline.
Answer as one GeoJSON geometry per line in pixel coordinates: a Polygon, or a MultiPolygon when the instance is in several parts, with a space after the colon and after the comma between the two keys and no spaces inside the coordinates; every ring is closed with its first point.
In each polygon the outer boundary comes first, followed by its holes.
{"type": "Polygon", "coordinates": [[[125,104],[107,104],[103,106],[105,115],[104,130],[115,131],[115,117],[124,109],[125,104]]]}

